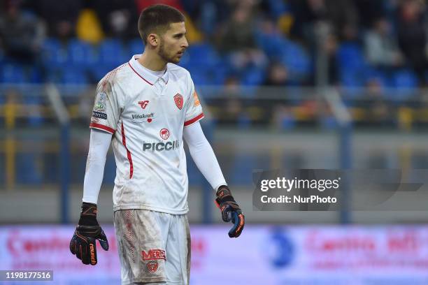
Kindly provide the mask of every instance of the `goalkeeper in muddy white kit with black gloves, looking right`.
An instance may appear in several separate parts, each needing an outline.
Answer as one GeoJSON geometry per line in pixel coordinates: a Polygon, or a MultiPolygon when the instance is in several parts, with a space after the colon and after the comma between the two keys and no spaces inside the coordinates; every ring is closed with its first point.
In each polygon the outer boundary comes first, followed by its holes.
{"type": "MultiPolygon", "coordinates": [[[[188,43],[185,18],[165,5],[141,12],[145,50],[110,71],[97,86],[90,123],[83,205],[70,250],[97,264],[97,200],[108,147],[116,161],[113,212],[122,284],[188,284],[190,231],[183,139],[215,189],[223,221],[241,235],[245,221],[199,124],[204,117],[190,73],[177,66],[188,43]]],[[[114,56],[112,54],[112,56],[114,56]]]]}

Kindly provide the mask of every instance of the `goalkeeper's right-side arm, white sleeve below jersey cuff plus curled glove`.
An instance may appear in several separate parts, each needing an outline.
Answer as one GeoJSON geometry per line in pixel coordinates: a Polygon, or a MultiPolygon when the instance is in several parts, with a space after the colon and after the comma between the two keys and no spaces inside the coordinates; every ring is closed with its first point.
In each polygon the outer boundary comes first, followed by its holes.
{"type": "Polygon", "coordinates": [[[185,127],[183,137],[189,146],[190,155],[197,168],[216,191],[217,198],[215,201],[222,211],[223,221],[231,221],[234,224],[229,231],[229,237],[238,238],[243,230],[245,217],[231,195],[229,187],[227,187],[213,148],[206,140],[201,124],[196,122],[185,127]]]}

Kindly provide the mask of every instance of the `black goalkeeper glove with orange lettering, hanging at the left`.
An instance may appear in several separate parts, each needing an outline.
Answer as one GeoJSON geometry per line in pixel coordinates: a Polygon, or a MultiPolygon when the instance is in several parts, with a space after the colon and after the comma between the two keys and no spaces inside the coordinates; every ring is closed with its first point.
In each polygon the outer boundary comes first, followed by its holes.
{"type": "Polygon", "coordinates": [[[97,245],[95,240],[104,250],[108,250],[107,237],[97,221],[97,205],[92,203],[82,204],[79,224],[70,242],[70,251],[76,254],[84,264],[97,264],[97,245]]]}

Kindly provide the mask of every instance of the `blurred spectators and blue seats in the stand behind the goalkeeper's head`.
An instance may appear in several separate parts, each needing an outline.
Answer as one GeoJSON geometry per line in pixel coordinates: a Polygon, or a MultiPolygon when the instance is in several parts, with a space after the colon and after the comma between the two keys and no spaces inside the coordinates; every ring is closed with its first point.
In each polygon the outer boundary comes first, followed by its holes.
{"type": "Polygon", "coordinates": [[[428,82],[423,0],[1,3],[0,82],[97,82],[143,51],[136,23],[153,3],[185,14],[190,48],[180,64],[199,85],[415,88],[428,82]]]}

